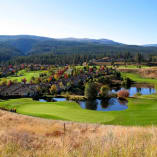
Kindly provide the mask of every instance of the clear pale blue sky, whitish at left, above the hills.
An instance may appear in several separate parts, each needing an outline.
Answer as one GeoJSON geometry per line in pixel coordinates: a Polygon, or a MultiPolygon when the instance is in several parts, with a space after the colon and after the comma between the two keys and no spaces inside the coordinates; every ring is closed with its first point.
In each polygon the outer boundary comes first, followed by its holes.
{"type": "Polygon", "coordinates": [[[0,35],[157,44],[157,0],[0,0],[0,35]]]}

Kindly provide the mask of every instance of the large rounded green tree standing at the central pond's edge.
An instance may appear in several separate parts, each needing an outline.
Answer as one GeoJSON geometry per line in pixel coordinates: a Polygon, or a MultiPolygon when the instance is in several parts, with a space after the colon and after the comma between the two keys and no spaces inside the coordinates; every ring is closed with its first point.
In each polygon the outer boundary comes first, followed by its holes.
{"type": "Polygon", "coordinates": [[[85,97],[87,99],[96,99],[97,94],[95,83],[87,83],[85,85],[85,97]]]}

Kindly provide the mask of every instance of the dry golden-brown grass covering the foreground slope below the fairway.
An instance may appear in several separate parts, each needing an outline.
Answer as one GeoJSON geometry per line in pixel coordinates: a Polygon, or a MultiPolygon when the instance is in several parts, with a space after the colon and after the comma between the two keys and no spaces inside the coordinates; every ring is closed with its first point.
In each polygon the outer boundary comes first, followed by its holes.
{"type": "Polygon", "coordinates": [[[156,157],[156,127],[44,120],[0,111],[0,157],[156,157]]]}

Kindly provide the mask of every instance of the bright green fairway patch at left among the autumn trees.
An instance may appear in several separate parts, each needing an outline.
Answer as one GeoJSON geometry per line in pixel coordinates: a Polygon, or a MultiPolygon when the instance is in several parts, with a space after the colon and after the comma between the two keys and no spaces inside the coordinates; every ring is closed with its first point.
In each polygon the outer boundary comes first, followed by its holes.
{"type": "MultiPolygon", "coordinates": [[[[26,70],[21,70],[17,73],[17,76],[9,76],[4,79],[11,80],[11,81],[17,80],[18,82],[21,82],[22,79],[26,78],[27,81],[30,81],[32,77],[39,77],[41,73],[47,73],[47,72],[48,71],[43,71],[43,70],[29,71],[29,72],[27,72],[26,70]]],[[[1,80],[3,80],[3,78],[1,80]]]]}

